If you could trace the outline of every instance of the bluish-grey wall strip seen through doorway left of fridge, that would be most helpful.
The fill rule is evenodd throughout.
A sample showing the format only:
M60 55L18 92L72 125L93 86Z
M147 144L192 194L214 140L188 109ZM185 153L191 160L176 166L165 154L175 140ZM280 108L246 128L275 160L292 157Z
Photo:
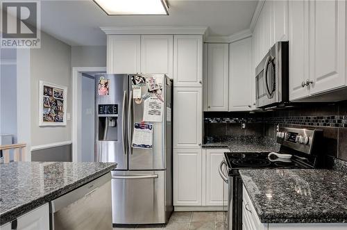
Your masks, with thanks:
M94 104L95 79L93 76L82 74L82 108L81 108L81 160L94 161Z

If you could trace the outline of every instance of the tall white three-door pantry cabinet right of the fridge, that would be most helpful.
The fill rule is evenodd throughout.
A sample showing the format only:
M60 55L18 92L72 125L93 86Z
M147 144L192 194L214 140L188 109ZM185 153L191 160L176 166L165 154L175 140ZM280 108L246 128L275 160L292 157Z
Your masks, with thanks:
M202 204L203 38L174 35L174 206Z

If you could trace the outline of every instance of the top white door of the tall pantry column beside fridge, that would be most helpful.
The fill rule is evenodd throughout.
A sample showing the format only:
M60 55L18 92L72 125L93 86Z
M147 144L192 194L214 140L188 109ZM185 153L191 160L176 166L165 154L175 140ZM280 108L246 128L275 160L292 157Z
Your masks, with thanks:
M174 86L202 87L203 38L201 35L174 36Z

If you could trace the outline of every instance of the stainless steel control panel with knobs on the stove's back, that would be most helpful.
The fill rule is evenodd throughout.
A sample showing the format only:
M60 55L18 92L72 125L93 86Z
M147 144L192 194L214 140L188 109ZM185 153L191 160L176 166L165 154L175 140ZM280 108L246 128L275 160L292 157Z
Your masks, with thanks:
M323 131L321 129L282 128L277 132L277 142L281 145L311 154L314 139Z

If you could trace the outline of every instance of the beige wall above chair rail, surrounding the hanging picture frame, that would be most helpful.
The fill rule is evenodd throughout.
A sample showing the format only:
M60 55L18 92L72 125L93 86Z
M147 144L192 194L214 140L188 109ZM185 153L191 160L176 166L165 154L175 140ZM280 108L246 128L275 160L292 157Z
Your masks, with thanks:
M39 81L67 87L67 113L71 114L71 47L41 32L41 49L31 49L31 146L71 140L71 121L67 126L38 123Z

